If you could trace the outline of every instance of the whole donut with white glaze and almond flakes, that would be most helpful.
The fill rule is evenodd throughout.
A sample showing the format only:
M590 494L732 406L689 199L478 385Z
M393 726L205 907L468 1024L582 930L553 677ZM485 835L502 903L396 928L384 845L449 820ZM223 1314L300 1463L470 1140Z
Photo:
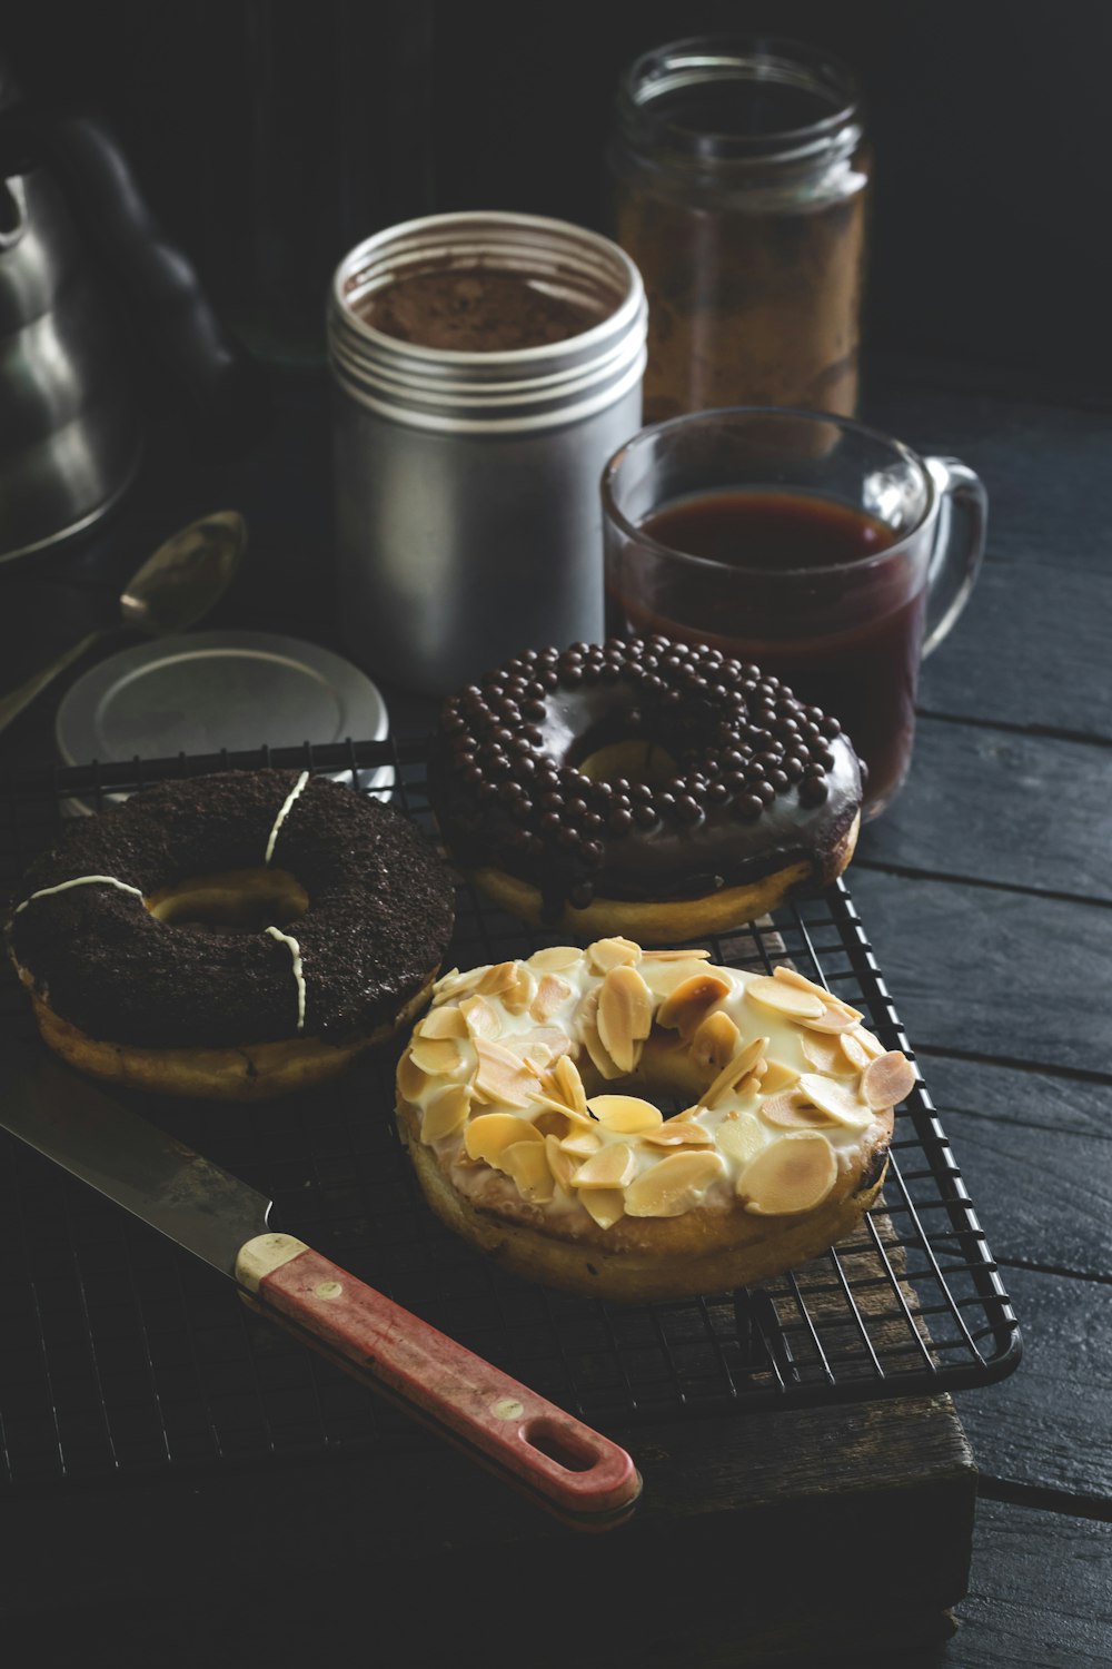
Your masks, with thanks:
M637 1302L752 1285L849 1235L914 1082L790 968L615 936L442 978L397 1112L448 1227L527 1278Z

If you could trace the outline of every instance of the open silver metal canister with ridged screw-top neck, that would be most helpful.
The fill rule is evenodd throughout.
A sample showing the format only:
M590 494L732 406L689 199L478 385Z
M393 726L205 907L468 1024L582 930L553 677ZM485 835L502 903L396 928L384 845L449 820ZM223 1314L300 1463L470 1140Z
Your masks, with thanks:
M397 279L475 269L582 307L590 327L482 352L370 322L368 302ZM352 659L440 696L522 649L602 638L599 481L640 427L645 320L624 250L537 215L430 215L340 262L328 357L338 619Z

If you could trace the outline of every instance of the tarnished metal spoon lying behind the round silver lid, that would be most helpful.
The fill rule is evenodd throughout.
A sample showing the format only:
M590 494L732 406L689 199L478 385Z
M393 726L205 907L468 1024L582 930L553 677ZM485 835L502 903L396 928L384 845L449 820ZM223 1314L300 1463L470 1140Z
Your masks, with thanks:
M215 511L190 522L160 544L153 556L128 579L120 594L123 626L163 638L188 631L220 601L232 584L247 547L247 522L238 511ZM58 678L67 666L80 661L95 643L118 628L102 626L65 649L50 666L33 673L25 684L0 699L0 731L23 708Z

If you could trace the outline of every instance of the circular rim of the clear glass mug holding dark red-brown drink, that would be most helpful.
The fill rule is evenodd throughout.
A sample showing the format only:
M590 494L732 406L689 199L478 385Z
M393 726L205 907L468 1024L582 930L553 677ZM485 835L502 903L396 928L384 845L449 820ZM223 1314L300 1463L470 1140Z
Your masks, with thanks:
M885 544L880 551L870 551L862 556L854 556L845 562L830 562L822 567L824 576L829 574L860 574L870 567L880 567L884 562L890 562L899 557L907 549L909 542L927 526L934 511L939 504L939 491L934 476L927 469L925 461L905 446L904 441L897 441L895 436L884 434L882 429L870 429L867 424L857 422L854 417L842 417L837 412L814 411L805 406L722 406L712 411L700 412L684 412L680 417L669 417L665 422L647 424L639 429L637 434L624 441L622 446L614 452L602 471L600 494L602 494L602 514L604 522L612 522L627 539L635 544L644 546L655 556L667 557L669 561L690 562L695 567L727 572L727 574L747 574L750 577L759 577L765 581L797 581L800 577L810 576L814 579L815 569L812 567L750 567L745 562L720 562L714 556L697 556L694 551L680 551L679 546L662 544L660 539L654 539L652 534L645 532L637 522L630 521L625 511L619 509L614 482L622 462L630 456L630 452L657 437L675 432L679 429L694 427L700 422L710 421L732 421L732 419L752 419L762 417L779 422L780 419L790 419L799 422L800 419L810 422L820 422L825 426L834 426L849 434L855 434L864 441L874 441L879 446L885 446L890 452L902 459L910 469L915 471L924 486L924 507L915 517L910 527L905 527L899 539L892 544ZM674 502L674 501L672 501ZM657 506L660 507L660 506Z

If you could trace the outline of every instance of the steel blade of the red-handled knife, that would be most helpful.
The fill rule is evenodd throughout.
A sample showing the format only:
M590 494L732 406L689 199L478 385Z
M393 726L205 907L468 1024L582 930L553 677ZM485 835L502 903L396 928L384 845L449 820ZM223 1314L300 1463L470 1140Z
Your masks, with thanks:
M0 1050L0 1125L220 1270L267 1228L270 1200L93 1088L37 1038Z

